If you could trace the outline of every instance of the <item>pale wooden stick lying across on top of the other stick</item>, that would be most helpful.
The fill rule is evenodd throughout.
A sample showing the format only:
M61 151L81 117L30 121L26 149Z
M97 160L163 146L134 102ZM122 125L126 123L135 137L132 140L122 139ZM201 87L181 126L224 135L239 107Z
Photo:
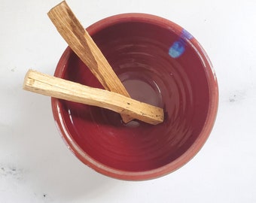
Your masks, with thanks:
M145 123L156 125L163 122L162 108L136 101L116 92L85 86L38 71L27 72L23 89L54 98L107 108Z

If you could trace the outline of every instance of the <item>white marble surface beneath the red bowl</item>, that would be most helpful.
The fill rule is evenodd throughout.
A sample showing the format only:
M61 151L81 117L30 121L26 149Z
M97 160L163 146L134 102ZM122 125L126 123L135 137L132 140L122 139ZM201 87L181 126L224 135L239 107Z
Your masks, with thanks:
M69 0L84 26L142 12L187 29L218 77L218 118L200 153L156 180L98 174L70 153L50 98L22 90L29 68L53 74L66 43L47 17L59 1L0 0L0 202L256 202L256 2Z

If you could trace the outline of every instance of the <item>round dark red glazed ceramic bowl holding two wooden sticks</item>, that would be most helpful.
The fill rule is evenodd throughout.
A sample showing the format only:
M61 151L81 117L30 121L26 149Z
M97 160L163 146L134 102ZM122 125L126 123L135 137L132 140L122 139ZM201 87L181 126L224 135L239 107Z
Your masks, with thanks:
M148 14L120 14L87 28L133 98L164 109L156 126L52 98L53 117L81 162L123 180L169 174L203 147L215 123L218 83L206 52L185 29ZM54 74L102 88L68 47Z

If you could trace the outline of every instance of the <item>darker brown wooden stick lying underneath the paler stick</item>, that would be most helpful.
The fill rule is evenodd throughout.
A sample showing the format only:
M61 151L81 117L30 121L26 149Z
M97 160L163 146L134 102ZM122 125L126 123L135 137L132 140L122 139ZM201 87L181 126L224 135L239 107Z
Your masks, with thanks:
M78 57L90 68L102 86L111 91L130 97L123 84L109 65L105 56L99 50L88 32L81 26L78 19L66 2L61 2L48 12L50 20L58 30L62 38ZM133 120L132 117L121 114L124 123Z

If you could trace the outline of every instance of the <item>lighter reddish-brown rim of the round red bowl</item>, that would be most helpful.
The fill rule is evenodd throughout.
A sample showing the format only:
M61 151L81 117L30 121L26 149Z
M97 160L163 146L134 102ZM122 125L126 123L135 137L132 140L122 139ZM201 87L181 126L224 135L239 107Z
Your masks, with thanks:
M141 14L141 13L128 13L128 14L117 14L111 17L106 17L102 20L99 20L96 23L93 23L87 28L87 32L90 35L94 35L96 32L99 32L101 29L105 29L108 26L112 26L116 23L125 23L130 21L138 21L142 23L153 23L157 26L162 26L168 28L171 32L180 34L184 29L178 24L173 23L170 20L166 20L163 17L158 17L152 14ZM81 150L81 147L72 140L71 135L69 135L69 130L66 128L65 123L62 120L61 114L62 110L59 108L59 100L56 98L51 98L51 105L53 111L53 118L55 120L57 129L59 129L62 140L66 143L69 150L75 154L75 156L81 160L85 165L88 165L90 168L93 168L95 171L98 171L101 174L105 174L108 177L114 177L121 180L150 180L157 177L162 177L163 175L169 174L173 171L176 171L181 166L185 165L190 159L193 159L194 156L200 151L200 149L205 144L206 140L209 138L212 128L215 123L218 111L218 81L215 74L215 71L212 67L212 62L206 54L206 51L200 45L200 43L195 39L186 39L186 41L193 47L197 54L200 56L200 59L203 61L204 69L206 71L206 79L209 85L209 109L200 135L194 141L194 143L186 150L181 156L179 156L174 161L170 162L167 165L163 165L160 168L155 168L149 171L121 171L115 168L108 167L100 162L97 162L95 159L90 157L87 153ZM62 53L61 58L59 59L58 65L56 66L56 71L54 76L62 77L63 65L69 59L72 50L70 47L67 47L64 53Z

